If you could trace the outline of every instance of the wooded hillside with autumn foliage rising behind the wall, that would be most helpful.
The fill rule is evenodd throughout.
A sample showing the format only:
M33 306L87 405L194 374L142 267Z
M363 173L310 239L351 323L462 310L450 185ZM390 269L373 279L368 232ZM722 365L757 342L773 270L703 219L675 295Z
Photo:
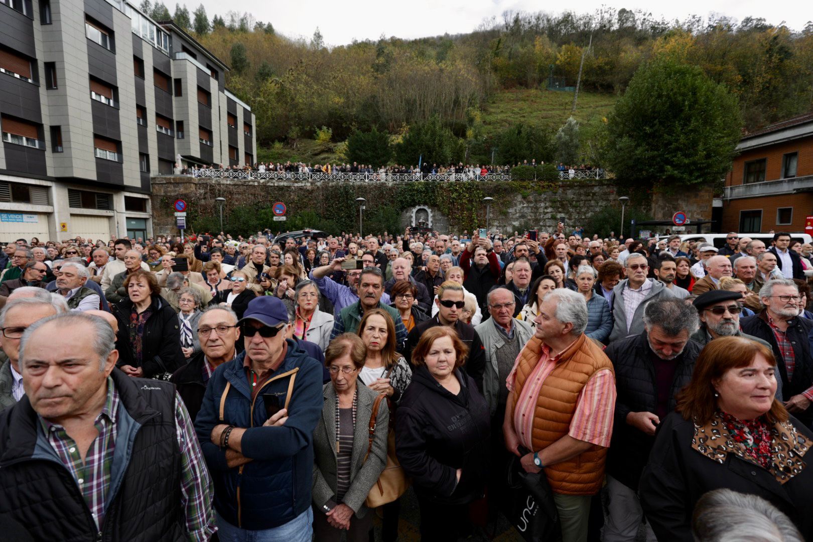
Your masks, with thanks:
M228 63L228 88L257 116L259 145L268 149L260 157L273 159L300 143L326 160L346 158L348 138L360 133L369 141L389 135L398 145L382 156L406 160L404 138L434 130L451 138L441 155L454 160L511 163L519 145L550 161L561 155L556 133L573 141L575 129L576 160L601 163L613 106L652 61L693 67L693 77L729 93L736 111L722 124L754 130L813 108L811 22L666 21L608 7L506 12L467 34L328 48L319 28L310 40L291 39L246 13L210 18L202 6L180 5L170 13L149 0L141 7L156 20L172 18ZM552 90L577 81L575 103L572 91Z

